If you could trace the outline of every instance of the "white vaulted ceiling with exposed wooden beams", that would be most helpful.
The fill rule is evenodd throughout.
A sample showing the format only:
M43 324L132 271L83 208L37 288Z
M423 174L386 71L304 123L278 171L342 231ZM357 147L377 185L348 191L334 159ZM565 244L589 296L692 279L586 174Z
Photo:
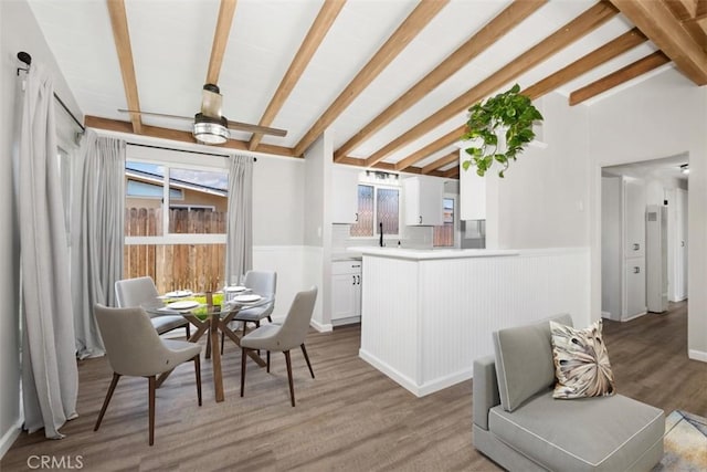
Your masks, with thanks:
M193 141L217 83L224 147L458 176L467 108L514 83L591 104L663 67L707 83L707 0L30 0L87 126ZM28 51L31 53L31 51Z

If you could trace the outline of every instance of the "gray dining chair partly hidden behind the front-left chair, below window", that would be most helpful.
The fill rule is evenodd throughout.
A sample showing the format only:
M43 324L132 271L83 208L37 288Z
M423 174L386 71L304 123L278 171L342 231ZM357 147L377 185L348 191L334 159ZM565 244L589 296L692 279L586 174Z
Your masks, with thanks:
M159 296L155 282L150 276L125 279L115 283L115 297L118 308L140 306L141 303L152 301ZM172 329L184 328L187 339L191 335L190 323L181 315L148 314L157 334L169 333Z

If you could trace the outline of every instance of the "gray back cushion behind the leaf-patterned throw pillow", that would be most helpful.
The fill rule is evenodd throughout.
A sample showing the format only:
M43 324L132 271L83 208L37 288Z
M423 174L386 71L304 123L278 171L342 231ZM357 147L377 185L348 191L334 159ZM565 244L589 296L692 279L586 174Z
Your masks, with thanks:
M572 325L571 316L564 314L494 333L498 392L506 411L555 385L550 319Z

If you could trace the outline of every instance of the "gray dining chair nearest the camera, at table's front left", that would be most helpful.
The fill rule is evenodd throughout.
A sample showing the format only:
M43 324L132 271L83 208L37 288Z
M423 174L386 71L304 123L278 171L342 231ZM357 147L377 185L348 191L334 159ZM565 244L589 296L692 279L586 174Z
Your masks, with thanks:
M94 431L98 431L115 387L122 376L147 377L149 444L155 443L155 389L157 376L193 360L197 375L197 398L201 407L201 346L187 340L162 339L140 307L110 308L96 304L94 314L98 322L113 380L108 387Z

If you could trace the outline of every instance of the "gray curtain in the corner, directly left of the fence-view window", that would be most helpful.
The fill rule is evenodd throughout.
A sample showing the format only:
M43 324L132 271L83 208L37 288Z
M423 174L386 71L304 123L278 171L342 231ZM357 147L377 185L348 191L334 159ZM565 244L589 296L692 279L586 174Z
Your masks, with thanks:
M93 306L116 306L114 286L123 279L125 140L88 129L81 155L77 211L72 213L72 286L76 352L85 358L105 354Z

